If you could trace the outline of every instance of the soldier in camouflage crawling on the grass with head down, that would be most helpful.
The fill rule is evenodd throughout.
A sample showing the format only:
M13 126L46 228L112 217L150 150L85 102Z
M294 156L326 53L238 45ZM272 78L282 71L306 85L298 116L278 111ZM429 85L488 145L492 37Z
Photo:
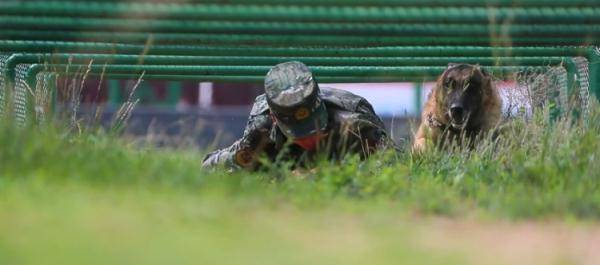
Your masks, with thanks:
M366 158L388 146L393 142L367 100L319 88L308 67L292 61L267 73L265 94L256 98L242 138L208 154L203 167L256 169L265 161L260 156L302 166L319 153L329 159L346 154Z

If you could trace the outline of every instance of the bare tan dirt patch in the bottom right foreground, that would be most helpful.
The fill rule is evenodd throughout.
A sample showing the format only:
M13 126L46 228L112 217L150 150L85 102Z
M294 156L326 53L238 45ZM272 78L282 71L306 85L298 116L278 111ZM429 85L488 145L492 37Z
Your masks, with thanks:
M600 264L600 226L555 222L431 220L420 244L471 264Z

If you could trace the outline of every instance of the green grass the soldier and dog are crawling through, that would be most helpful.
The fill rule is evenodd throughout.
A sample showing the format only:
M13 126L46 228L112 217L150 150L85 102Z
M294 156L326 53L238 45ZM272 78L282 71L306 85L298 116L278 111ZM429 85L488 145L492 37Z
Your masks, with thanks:
M0 264L464 264L428 218L600 219L600 116L514 121L474 152L202 170L203 152L0 129Z

